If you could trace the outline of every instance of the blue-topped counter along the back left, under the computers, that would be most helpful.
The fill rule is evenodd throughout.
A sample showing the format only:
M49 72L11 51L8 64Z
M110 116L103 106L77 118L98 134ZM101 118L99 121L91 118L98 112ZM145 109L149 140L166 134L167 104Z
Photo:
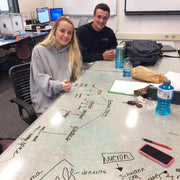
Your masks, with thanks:
M40 34L38 34L37 32L25 32L25 34L19 35L19 39L23 39L23 38L26 38L26 37L31 37L34 40L35 38L45 36L47 34L48 34L48 32L41 32ZM18 41L16 39L3 39L3 38L0 38L0 48L3 48L4 46L7 46L7 45L15 44L17 42Z

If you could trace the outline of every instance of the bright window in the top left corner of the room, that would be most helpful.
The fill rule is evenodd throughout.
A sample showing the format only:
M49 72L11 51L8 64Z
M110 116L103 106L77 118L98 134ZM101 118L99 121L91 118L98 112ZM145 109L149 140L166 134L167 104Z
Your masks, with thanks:
M19 13L18 0L0 0L0 13Z

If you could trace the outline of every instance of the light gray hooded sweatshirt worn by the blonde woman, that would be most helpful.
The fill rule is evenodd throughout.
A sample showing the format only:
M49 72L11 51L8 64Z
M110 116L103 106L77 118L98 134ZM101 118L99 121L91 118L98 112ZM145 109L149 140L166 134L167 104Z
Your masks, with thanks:
M69 49L57 51L54 46L37 45L32 52L30 90L33 107L41 114L64 91L62 81L70 80Z

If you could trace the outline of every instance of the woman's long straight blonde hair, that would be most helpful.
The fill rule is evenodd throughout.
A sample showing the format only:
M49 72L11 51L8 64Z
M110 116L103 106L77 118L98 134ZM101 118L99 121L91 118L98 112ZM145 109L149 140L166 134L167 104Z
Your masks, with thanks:
M47 36L47 38L45 38L39 44L49 45L49 46L53 46L55 44L54 34L55 34L57 27L61 21L66 21L73 26L72 38L68 44L68 47L69 47L69 70L71 72L71 69L73 67L72 72L71 72L71 77L72 77L72 79L77 79L81 73L81 56L80 56L80 50L79 50L77 37L76 37L76 33L75 33L75 28L74 28L72 21L69 18L64 17L64 16L59 17L55 21L55 23L54 23L49 35Z

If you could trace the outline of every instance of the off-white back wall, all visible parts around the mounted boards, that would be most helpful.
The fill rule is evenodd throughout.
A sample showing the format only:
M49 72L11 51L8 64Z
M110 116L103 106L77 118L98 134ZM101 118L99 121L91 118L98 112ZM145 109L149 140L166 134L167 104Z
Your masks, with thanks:
M54 7L56 0L19 0L20 11L24 18L30 17L30 11L40 7ZM136 15L124 14L124 0L117 0L117 16L107 23L118 39L162 39L180 40L180 15ZM93 11L93 9L92 9ZM29 12L29 13L26 13ZM69 16L77 27L80 17ZM89 21L91 21L90 18Z

